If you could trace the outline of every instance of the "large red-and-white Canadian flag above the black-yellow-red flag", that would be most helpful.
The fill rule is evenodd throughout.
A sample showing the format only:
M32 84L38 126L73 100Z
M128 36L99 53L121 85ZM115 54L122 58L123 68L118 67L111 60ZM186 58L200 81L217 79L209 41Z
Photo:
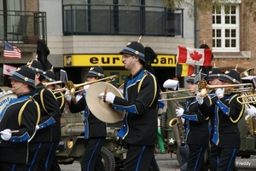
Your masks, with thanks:
M209 48L177 46L177 63L196 66L211 66L212 51Z

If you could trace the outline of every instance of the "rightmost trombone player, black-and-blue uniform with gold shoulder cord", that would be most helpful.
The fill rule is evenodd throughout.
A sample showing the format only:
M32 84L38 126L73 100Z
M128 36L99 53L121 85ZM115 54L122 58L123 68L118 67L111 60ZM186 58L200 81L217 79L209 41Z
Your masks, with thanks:
M219 77L222 85L240 83L240 74L236 70L225 71ZM229 88L217 88L212 105L203 102L200 109L206 117L214 117L212 126L212 144L210 149L211 171L235 170L236 153L240 148L240 133L237 122L240 120L244 105L237 101L239 94L228 93ZM231 143L230 143L231 142Z

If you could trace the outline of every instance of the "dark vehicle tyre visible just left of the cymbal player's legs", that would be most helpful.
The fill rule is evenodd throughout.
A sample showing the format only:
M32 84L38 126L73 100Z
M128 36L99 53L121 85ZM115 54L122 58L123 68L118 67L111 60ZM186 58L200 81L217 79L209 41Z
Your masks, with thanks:
M115 162L113 154L105 147L102 147L102 163L106 171L114 171Z

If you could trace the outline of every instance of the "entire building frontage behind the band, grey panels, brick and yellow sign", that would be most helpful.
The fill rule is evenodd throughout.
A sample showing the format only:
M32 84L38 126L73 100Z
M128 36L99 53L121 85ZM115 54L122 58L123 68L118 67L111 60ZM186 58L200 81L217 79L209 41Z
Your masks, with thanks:
M119 51L140 36L141 43L158 54L153 66L161 85L175 77L177 45L199 48L201 43L207 43L214 54L212 65L224 69L238 65L243 71L253 67L255 60L255 22L245 15L248 12L244 1L221 9L223 11L216 9L213 13L199 14L196 21L189 19L189 7L171 11L162 1L155 0L0 0L1 10L20 10L26 14L32 11L34 16L39 13L36 16L40 20L38 25L34 24L35 28L39 27L36 31L29 30L32 22L28 19L28 41L23 36L17 42L14 35L4 32L8 29L0 31L0 47L8 41L22 52L21 60L4 59L2 53L0 67L3 68L3 64L20 66L34 59L35 42L44 37L50 51L48 60L56 76L64 69L73 83L84 82L85 73L96 65L102 66L107 75L119 75L116 84L122 83L128 72L122 66ZM45 22L40 18L44 13ZM19 20L6 22L4 19L0 15L0 22L15 31L13 26L19 24ZM179 80L183 85L183 77ZM0 83L6 82L3 78Z

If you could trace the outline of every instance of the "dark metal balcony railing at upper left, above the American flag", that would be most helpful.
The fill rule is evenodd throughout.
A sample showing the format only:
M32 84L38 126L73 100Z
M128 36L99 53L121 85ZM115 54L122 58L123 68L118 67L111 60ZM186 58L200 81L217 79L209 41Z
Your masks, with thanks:
M45 12L0 10L0 23L0 42L36 43L38 38L47 41Z

